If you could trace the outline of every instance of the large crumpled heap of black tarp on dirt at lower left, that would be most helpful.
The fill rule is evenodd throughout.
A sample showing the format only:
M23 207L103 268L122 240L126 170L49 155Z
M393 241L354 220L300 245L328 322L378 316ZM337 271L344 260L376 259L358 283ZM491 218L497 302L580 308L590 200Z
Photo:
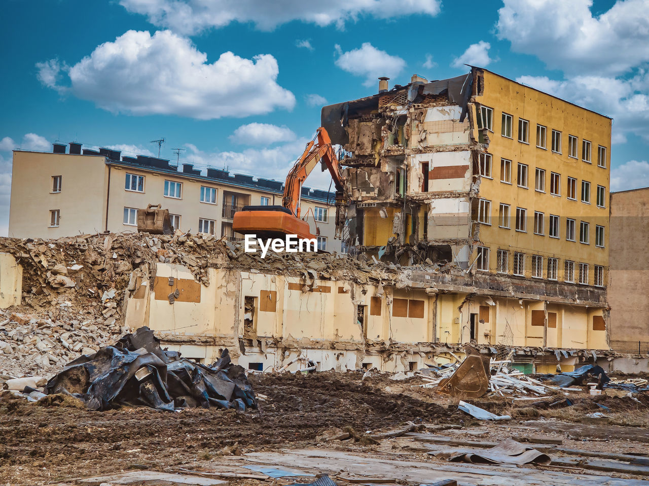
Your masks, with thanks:
M47 382L45 393L68 393L90 410L125 404L169 411L197 406L257 408L243 367L232 364L227 349L208 367L177 351L163 351L148 327L69 363Z

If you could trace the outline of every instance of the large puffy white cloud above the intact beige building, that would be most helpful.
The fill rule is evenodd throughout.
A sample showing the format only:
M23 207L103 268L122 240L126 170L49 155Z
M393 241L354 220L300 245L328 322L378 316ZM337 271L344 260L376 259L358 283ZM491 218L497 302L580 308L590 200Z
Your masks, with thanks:
M50 64L40 65L45 86L61 89L51 84ZM169 30L153 36L129 30L70 67L67 90L114 113L247 117L295 106L293 93L277 84L278 73L271 54L251 60L224 52L208 64L204 52Z

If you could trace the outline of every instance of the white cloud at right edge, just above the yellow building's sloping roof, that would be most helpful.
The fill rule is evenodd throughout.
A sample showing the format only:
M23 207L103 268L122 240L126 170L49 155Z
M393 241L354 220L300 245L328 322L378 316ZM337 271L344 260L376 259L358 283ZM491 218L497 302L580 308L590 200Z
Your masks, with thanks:
M613 142L627 133L649 141L649 73L631 79L575 76L557 81L547 76L520 76L517 81L613 118Z

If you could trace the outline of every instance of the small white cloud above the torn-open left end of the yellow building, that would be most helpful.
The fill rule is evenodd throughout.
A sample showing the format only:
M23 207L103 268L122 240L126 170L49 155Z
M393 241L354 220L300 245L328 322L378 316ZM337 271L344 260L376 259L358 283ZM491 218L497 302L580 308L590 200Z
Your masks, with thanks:
M336 44L336 51L339 54L336 65L352 75L363 76L363 86L378 85L379 76L396 78L406 67L406 61L402 58L379 51L369 42L363 42L360 48L347 52Z

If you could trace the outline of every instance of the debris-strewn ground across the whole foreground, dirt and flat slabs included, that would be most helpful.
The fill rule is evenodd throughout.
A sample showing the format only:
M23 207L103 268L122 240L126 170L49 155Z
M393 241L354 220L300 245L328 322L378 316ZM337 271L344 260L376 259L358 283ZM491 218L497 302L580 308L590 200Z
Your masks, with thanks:
M219 476L210 474L251 474L241 467L251 463L327 473L337 484L363 483L358 476L365 476L365 483L400 484L434 483L444 478L467 485L649 484L643 481L649 477L649 466L626 467L625 462L617 461L622 465L617 467L613 461L611 470L607 467L611 460L606 459L606 454L640 454L641 460L649 455L646 392L635 394L637 400L572 393L574 405L565 408L550 408L552 399L540 400L545 405L534 407L524 400L467 400L512 417L506 422L485 422L459 411L459 399L440 395L434 388L413 386L422 383L420 378L395 381L390 376L380 373L363 380L360 371L252 376L256 393L265 398L258 411L245 413L215 409L164 412L143 407L98 412L62 395L31 403L4 392L0 395L0 484L88 485L92 481L83 478L182 470L201 472L198 477L214 480ZM608 409L608 424L583 424L585 415L604 410L598 403ZM408 422L417 426L417 432L368 438L380 431L398 430ZM346 434L349 439L329 440ZM553 465L451 463L427 454L440 448L452 452L462 445L484 448L502 439L522 441L536 435L545 443L532 446L542 452L547 449ZM599 457L556 448L590 451ZM555 460L561 464L554 465ZM593 465L600 467L593 469ZM315 480L228 478L227 474L221 480L234 486ZM95 484L102 482L111 484ZM145 476L131 484L144 483L158 484L146 482Z

